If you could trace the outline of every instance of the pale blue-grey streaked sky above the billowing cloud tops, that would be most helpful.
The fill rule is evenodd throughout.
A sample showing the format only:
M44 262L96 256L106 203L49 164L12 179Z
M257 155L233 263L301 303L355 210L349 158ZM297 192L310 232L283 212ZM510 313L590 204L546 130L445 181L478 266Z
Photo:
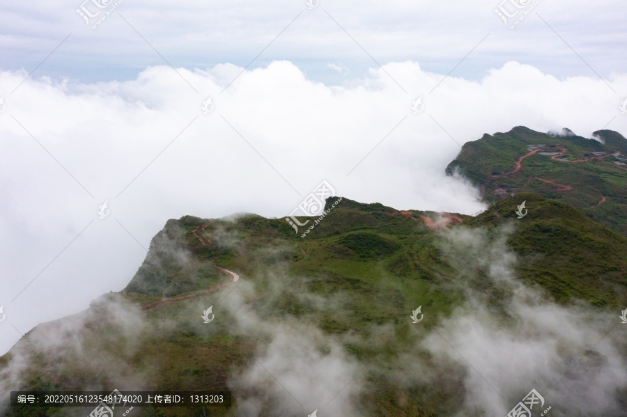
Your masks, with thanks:
M84 8L102 15L114 4L99 9L90 0ZM81 1L6 1L0 69L31 72L56 47L33 76L125 81L165 60L189 70L288 60L326 84L360 79L374 61L415 61L447 74L465 56L453 74L475 80L508 61L559 78L595 72L607 78L626 68L627 12L620 1L540 1L515 29L495 13L500 4L322 0L308 10L304 1L122 1L91 29L76 11ZM522 15L533 4L518 9L507 0L502 8Z

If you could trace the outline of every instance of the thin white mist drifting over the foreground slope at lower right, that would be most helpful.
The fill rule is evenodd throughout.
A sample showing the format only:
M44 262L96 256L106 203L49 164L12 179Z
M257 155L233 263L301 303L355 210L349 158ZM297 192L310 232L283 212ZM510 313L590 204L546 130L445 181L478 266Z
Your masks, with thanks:
M513 269L516 254L506 245L513 227L504 226L490 244L479 230L444 231L442 249L449 262L466 275L485 271L490 290L502 296L498 306L489 306L485 293L461 281L465 303L421 346L437 366L453 362L464 369L463 415L505 415L532 388L545 398L541 411L550 406L564 415L616 414L618 393L627 386L627 363L618 334L607 332L617 322L615 315L575 301L560 306L539 288L523 285Z

